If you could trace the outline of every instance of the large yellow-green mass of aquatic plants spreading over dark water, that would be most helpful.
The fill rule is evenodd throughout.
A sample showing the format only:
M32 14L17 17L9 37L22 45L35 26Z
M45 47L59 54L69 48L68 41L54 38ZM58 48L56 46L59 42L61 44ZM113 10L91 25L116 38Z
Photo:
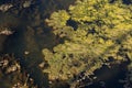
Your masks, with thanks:
M43 50L44 59L50 65L44 73L50 74L51 80L67 79L73 84L72 80L77 82L89 78L102 65L112 66L112 63L130 59L131 7L121 0L113 3L109 0L77 0L68 11L53 12L46 22L64 43L53 51Z

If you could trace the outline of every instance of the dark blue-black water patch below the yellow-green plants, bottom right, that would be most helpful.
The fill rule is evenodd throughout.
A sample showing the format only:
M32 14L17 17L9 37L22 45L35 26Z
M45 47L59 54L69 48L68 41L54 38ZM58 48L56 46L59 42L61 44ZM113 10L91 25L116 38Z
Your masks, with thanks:
M123 84L119 82L119 79L125 78L127 65L127 63L123 63L121 65L113 65L111 68L102 66L102 68L95 72L97 79L88 88L102 88L102 82L105 88L123 88Z

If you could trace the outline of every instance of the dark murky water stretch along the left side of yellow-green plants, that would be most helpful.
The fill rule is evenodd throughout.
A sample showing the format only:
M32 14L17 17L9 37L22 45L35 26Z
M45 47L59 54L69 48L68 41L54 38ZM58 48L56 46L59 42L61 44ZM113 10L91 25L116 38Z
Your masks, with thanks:
M10 2L10 0L8 1ZM4 0L2 3L8 3L8 1ZM45 47L52 48L55 45L55 35L50 31L46 31L48 29L44 25L44 19L55 10L68 8L68 4L74 0L66 3L66 6L56 1L53 1L51 4L51 0L42 0L42 3L31 6L29 9L20 10L18 8L12 8L7 12L8 15L11 14L19 18L19 22L12 28L14 34L7 36L4 42L1 43L1 46L3 45L2 54L13 53L15 57L20 59L21 66L34 79L38 88L48 88L48 74L43 73L38 67L38 64L44 62L42 50ZM20 2L14 1L13 4L15 3L19 6ZM55 8L53 8L53 6ZM41 14L40 20L35 19L36 13ZM14 19L8 20L10 21L9 23L13 23L13 21L15 22ZM36 22L36 24L34 24L34 22ZM6 24L11 28L7 22ZM40 28L40 31L42 31L41 33L37 31Z

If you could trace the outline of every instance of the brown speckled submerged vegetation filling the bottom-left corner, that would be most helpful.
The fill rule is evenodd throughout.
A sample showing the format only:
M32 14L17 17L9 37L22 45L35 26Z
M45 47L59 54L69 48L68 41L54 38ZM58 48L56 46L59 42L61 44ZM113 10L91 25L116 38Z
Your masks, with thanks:
M37 88L33 81L13 55L7 54L0 57L1 88Z

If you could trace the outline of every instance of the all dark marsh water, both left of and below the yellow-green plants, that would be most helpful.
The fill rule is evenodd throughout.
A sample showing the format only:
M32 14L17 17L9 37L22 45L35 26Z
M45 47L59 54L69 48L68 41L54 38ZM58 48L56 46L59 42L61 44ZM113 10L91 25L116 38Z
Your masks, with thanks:
M0 12L0 25L11 28L11 31L14 32L8 36L0 35L0 54L14 54L31 77L34 78L38 88L45 86L48 88L48 74L43 74L37 66L44 62L42 50L45 47L52 50L58 42L44 20L50 18L54 11L67 10L75 0L36 0L28 8L22 8L21 1L2 0L0 2L0 4L14 4L7 12ZM125 77L125 66L124 64L122 66L124 68L121 68L118 65L111 69L103 67L95 72L100 78L95 80L95 85L86 88L102 88L99 87L98 81L106 81L106 88L123 88L118 80Z

